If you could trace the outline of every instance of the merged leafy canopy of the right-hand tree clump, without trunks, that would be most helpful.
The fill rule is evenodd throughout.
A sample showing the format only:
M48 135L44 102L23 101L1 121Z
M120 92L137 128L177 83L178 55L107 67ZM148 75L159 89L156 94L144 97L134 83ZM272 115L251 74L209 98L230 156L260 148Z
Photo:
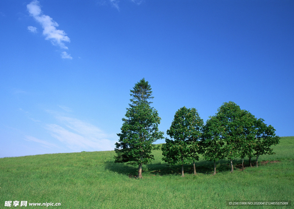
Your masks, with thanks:
M245 156L257 157L273 154L271 145L279 142L275 129L256 119L234 102L224 102L215 116L210 117L203 127L201 147L203 156L209 161L227 157L233 159Z

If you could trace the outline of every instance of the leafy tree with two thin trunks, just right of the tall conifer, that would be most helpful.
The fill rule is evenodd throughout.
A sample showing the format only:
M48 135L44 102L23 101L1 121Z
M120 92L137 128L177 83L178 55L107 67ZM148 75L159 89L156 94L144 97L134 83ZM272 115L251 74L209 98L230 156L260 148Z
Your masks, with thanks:
M184 164L193 161L194 174L196 174L195 161L199 159L198 139L201 136L203 120L195 108L180 108L171 124L167 134L174 140L166 139L162 145L162 159L172 165L182 165L184 176Z

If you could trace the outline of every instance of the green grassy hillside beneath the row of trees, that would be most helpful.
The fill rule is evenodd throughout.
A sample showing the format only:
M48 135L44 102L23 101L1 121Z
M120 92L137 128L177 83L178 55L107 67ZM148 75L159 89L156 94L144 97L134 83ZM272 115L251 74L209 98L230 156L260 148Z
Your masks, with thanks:
M170 166L155 160L143 166L143 179L136 179L137 167L114 163L114 151L46 154L0 159L0 208L5 201L54 202L48 208L294 208L291 206L228 206L234 201L293 201L294 137L281 137L275 155L263 155L259 167L242 172L235 159L234 173L229 160L220 160L217 174L213 162L200 158L185 165ZM275 162L271 162L275 161ZM278 161L278 162L277 162ZM254 159L253 159L254 162ZM267 163L266 163L267 162ZM248 164L248 159L244 160ZM11 208L10 207L10 208Z

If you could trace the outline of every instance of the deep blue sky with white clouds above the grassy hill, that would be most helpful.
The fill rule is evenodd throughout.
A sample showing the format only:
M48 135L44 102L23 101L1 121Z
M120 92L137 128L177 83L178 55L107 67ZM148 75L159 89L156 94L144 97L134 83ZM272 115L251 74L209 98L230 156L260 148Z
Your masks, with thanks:
M161 131L183 106L206 121L233 101L293 136L293 11L286 0L1 0L0 157L113 150L143 77Z

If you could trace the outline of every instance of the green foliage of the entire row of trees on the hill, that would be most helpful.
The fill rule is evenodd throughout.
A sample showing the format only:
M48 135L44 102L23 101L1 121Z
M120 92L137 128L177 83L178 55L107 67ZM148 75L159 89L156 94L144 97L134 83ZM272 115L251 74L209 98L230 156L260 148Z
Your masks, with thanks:
M263 119L257 120L250 112L241 110L230 101L224 102L205 125L195 108L180 108L167 130L171 139L166 138L166 143L156 148L153 142L163 139L163 132L158 130L161 118L150 107L152 102L147 101L153 99L151 87L145 79L141 79L130 95L133 97L130 99L132 104L127 108L126 118L122 119L114 158L115 162L139 165L139 178L140 166L153 160L151 152L155 149L162 150L165 162L183 165L198 160L198 153L214 162L223 158L272 155L274 152L270 147L279 143L280 138L271 125L267 126ZM232 162L231 167L232 172Z

